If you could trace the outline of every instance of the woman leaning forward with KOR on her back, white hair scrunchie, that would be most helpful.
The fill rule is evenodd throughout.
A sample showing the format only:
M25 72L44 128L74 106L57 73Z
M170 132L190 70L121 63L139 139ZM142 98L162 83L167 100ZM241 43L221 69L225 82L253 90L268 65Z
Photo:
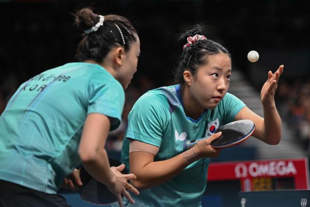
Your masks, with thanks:
M89 8L76 14L83 31L80 62L50 69L22 84L0 117L0 206L68 206L57 195L65 177L81 161L85 169L116 195L134 202L139 191L110 167L104 149L110 130L121 121L124 89L137 71L140 40L136 29L117 15ZM127 190L126 190L127 189Z

